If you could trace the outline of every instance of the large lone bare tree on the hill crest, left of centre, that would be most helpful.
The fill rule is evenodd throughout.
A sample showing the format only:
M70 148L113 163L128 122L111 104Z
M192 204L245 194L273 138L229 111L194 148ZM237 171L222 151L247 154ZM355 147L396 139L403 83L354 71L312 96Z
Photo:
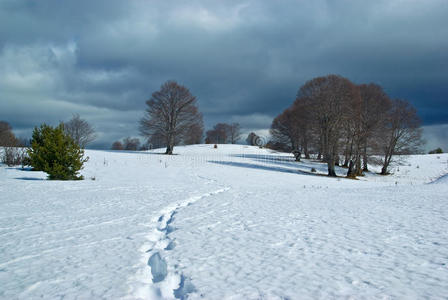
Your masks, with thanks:
M148 107L140 121L140 132L148 138L153 135L162 137L166 154L173 154L176 140L182 140L194 124L202 124L196 97L175 81L162 84L146 104Z

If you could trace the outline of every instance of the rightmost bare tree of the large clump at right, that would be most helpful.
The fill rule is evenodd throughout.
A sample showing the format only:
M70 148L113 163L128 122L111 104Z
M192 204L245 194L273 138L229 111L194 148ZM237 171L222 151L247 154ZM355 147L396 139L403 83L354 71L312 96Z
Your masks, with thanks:
M383 130L383 167L381 174L388 174L394 155L415 153L422 144L420 118L407 101L395 99L388 114L388 124Z

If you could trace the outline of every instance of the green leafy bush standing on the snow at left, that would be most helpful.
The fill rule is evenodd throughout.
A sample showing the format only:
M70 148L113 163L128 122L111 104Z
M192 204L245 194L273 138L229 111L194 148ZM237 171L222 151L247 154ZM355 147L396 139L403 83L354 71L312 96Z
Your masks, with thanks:
M46 124L34 128L28 155L31 166L48 173L49 179L84 179L78 172L88 157L84 158L84 150L64 132L62 124L55 128Z

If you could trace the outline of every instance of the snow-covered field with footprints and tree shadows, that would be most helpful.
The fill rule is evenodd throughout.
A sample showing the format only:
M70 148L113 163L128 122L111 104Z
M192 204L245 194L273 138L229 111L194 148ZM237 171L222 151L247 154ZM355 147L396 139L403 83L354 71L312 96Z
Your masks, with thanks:
M0 298L447 298L448 155L350 180L256 147L157 152L87 151L75 182L0 166Z

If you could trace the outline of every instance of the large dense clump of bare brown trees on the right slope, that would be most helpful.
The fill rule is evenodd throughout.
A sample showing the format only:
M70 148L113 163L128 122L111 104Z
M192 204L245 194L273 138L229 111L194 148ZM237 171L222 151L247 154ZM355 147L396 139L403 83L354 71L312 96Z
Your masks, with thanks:
M382 174L392 157L415 152L421 143L420 120L405 100L390 99L376 84L355 85L338 75L317 77L298 91L294 103L277 116L270 130L273 143L311 151L336 176L335 165L347 176L368 171L372 155L382 157Z

